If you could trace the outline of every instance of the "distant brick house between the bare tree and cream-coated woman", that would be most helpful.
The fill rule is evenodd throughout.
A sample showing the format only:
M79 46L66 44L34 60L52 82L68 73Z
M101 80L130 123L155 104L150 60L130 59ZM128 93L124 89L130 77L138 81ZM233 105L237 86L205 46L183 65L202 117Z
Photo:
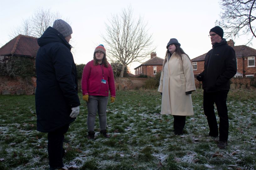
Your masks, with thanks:
M163 68L163 58L157 57L157 53L152 52L150 54L150 59L145 63L142 63L140 66L134 68L135 76L138 75L147 75L155 76L157 72L162 71Z

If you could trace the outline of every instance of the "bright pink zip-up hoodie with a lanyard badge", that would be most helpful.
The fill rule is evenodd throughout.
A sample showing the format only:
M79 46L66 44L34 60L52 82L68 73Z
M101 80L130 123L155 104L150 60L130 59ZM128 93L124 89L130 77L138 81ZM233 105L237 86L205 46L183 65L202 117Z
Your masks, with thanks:
M103 78L104 76L104 78ZM106 83L101 83L102 79ZM82 91L83 95L115 97L115 80L111 65L106 68L104 65L93 65L93 60L83 68Z

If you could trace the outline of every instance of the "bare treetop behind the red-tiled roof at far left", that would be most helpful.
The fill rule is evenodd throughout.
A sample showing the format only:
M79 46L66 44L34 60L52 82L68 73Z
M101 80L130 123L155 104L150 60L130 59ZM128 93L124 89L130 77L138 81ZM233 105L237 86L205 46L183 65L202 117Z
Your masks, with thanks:
M56 19L60 18L61 15L58 12L52 12L51 9L37 8L31 17L23 20L23 24L9 34L9 37L14 38L19 34L41 37L45 30L52 26Z

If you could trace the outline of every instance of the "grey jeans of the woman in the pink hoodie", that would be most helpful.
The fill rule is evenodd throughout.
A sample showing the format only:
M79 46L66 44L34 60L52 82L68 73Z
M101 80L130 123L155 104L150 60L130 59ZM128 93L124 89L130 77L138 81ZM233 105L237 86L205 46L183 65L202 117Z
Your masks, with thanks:
M108 96L89 96L87 103L88 116L87 127L88 131L94 131L95 118L98 111L99 115L99 127L100 130L106 129L107 126L107 104Z

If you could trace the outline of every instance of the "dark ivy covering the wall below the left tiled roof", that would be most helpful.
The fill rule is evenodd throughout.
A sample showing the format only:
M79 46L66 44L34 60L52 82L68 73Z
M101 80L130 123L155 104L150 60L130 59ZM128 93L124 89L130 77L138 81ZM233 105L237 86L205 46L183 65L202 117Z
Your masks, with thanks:
M35 77L35 58L9 56L0 63L0 76L31 78Z

